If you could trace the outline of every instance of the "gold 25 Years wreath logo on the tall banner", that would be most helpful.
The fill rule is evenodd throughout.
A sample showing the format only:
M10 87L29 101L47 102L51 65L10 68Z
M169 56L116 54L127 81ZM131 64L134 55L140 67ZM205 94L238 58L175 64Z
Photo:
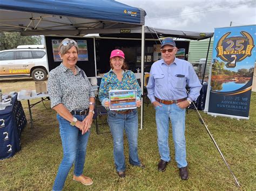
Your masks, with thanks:
M247 56L252 55L254 42L251 34L241 31L242 36L227 38L231 32L224 34L217 43L217 56L225 61L227 68L234 68L237 62L244 60Z

